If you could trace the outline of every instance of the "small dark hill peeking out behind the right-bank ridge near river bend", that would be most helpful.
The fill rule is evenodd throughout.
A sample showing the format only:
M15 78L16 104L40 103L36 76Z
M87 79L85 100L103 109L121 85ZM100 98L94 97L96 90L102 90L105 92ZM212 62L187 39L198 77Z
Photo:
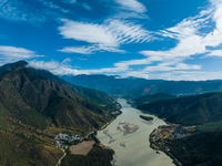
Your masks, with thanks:
M134 98L132 101L133 101L134 105L140 106L140 105L152 103L152 102L155 102L155 101L174 98L174 97L176 97L176 96L171 95L171 94L157 93L157 94L151 94L151 95L144 95L144 96L141 96L139 98Z

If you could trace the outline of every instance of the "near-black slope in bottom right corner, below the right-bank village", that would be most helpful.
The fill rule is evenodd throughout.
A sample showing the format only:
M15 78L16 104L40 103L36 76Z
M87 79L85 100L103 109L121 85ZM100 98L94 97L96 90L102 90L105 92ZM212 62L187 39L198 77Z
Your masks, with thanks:
M222 132L205 132L171 143L171 153L183 166L222 165Z

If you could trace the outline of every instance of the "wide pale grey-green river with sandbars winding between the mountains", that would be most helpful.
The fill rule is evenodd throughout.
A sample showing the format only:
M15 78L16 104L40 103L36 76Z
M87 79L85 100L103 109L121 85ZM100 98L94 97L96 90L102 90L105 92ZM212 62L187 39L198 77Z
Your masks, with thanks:
M103 131L98 132L98 138L103 145L115 152L117 166L174 166L173 160L164 153L150 147L149 135L159 125L165 123L157 116L143 114L130 106L124 98L119 98L122 114ZM152 116L152 123L145 123L140 115Z

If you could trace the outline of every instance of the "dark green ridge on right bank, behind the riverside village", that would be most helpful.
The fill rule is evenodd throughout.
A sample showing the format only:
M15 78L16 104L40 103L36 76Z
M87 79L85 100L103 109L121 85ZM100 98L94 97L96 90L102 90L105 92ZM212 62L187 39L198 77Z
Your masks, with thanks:
M222 121L222 93L206 93L193 96L161 100L138 106L182 125L202 125L204 123Z

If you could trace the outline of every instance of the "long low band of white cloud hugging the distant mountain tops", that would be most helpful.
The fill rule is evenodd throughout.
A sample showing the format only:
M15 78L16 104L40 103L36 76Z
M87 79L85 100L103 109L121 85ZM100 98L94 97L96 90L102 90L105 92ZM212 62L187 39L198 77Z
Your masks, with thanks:
M29 68L34 68L38 70L49 70L56 75L79 75L79 74L95 74L95 73L107 73L107 74L115 74L117 72L128 71L129 68L124 63L117 63L115 68L107 68L107 69L100 69L100 70L77 70L71 69L69 64L70 59L63 60L63 62L59 63L58 61L51 60L50 62L44 61L29 61ZM129 64L142 64L142 61L131 61L128 62ZM189 64L180 64L176 68L180 68L182 70L186 70L192 65ZM198 66L192 66L198 68ZM149 72L144 71L128 71L122 72L121 77L127 76L135 76L135 77L143 77L149 80L174 80L174 81L200 81L200 80L216 80L222 77L222 72L193 72L193 71L171 71L164 72L160 74L151 74Z

